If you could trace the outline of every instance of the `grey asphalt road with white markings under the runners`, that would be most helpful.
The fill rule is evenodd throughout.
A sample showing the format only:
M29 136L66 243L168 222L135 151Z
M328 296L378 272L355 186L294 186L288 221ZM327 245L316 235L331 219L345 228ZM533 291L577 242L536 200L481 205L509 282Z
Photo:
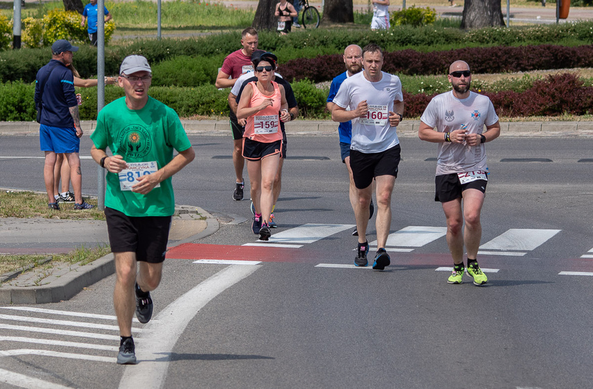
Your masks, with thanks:
M289 137L272 242L281 247L268 248L246 245L257 242L250 223L239 223L250 221L250 203L231 199L230 139L190 139L196 160L175 176L176 202L211 211L222 226L169 253L155 320L135 325L141 363L114 363L108 277L67 302L0 307L0 388L590 386L590 139L487 145L479 261L490 282L482 287L469 277L446 282L436 145L401 139L392 266L373 272L350 266L354 217L336 137ZM85 137L83 155L89 148ZM40 156L36 137L0 137L1 186L43 190ZM96 193L89 159L83 187ZM51 311L29 310L40 308Z

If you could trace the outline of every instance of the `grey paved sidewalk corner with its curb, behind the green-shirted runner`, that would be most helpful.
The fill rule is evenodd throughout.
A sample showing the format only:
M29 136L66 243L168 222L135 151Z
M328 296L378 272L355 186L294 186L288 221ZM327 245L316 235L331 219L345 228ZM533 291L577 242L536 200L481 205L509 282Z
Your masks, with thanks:
M178 205L169 234L169 248L195 241L218 230L214 216L199 207ZM78 238L76 238L78 237ZM0 254L55 254L109 242L105 221L45 218L0 218ZM65 241L66 240L66 241ZM0 275L0 304L44 304L68 300L83 288L115 271L113 255L87 265L51 263Z

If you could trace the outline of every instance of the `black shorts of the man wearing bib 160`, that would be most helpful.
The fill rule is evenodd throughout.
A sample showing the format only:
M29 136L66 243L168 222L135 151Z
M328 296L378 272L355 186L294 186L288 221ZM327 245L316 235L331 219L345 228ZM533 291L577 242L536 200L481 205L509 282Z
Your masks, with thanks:
M372 183L372 179L379 175L393 175L397 178L401 151L399 144L381 153L361 153L358 150L350 150L350 168L352 168L352 178L356 188L365 189Z

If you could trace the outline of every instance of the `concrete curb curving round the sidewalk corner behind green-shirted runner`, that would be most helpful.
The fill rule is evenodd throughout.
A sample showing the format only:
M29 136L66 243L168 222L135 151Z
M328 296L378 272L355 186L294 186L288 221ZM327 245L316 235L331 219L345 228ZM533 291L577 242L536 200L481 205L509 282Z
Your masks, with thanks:
M200 207L188 205L175 206L175 216L183 218L183 214L196 213L206 217L207 227L205 230L189 236L181 241L174 241L169 247L175 247L183 243L189 243L202 239L205 236L214 234L220 228L220 224L209 212ZM46 304L49 302L60 302L69 300L77 293L101 281L115 273L115 262L113 254L96 259L87 265L71 266L71 270L60 276L50 276L44 279L48 282L42 286L0 286L0 304Z

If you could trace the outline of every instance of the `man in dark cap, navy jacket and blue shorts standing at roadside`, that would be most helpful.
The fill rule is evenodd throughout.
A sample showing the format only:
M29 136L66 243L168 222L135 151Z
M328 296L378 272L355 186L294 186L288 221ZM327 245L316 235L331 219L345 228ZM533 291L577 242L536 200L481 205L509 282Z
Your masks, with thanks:
M51 45L51 61L37 71L35 80L35 105L40 115L40 148L45 152L43 178L49 198L49 208L60 210L53 197L53 168L58 154L65 154L70 165L70 181L74 188L74 209L93 206L83 200L83 176L80 171L80 128L78 102L74 92L74 75L67 68L72 63L74 51L67 40L57 40Z

